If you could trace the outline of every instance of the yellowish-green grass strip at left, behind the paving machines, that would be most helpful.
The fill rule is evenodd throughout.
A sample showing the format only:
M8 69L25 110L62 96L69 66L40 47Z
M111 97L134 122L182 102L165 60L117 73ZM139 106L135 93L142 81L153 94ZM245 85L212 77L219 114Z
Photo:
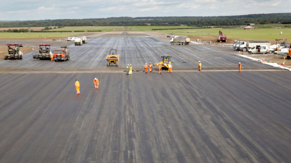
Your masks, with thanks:
M16 38L54 38L54 37L67 37L67 36L74 36L74 35L80 35L82 32L52 32L52 33L35 33L32 32L30 34L28 33L7 33L3 32L0 33L0 38L2 39L16 39Z

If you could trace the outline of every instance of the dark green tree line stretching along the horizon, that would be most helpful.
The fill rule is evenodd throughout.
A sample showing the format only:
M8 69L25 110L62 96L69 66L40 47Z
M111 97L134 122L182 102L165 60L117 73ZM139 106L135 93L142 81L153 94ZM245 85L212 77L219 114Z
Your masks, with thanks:
M62 19L0 22L5 27L69 26L240 26L246 24L291 24L291 13L251 14L218 17L111 17L101 19Z

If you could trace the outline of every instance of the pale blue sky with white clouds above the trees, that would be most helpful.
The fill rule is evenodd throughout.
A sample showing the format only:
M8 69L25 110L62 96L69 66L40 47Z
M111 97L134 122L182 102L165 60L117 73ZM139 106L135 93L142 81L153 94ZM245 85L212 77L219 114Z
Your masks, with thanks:
M0 21L290 13L278 0L0 0Z

